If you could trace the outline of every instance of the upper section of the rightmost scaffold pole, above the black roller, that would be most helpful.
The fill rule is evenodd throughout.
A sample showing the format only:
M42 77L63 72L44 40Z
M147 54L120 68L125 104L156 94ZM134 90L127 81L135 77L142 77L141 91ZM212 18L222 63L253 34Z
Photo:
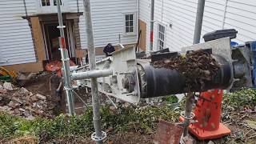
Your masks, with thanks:
M197 18L194 26L194 42L193 44L200 43L201 31L202 31L202 18L205 9L206 0L198 0Z

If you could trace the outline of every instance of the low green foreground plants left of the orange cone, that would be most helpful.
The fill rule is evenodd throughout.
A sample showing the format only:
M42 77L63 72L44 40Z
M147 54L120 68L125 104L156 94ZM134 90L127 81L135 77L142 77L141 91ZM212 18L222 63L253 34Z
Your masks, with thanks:
M119 107L111 110L110 106L102 107L102 126L106 130L110 127L114 131L136 130L143 134L151 134L158 123L158 119L169 122L178 120L179 113L171 106L148 106L136 109L134 106ZM39 142L46 142L52 138L85 137L94 131L92 109L88 108L80 116L68 117L64 114L54 119L36 118L32 121L18 118L10 114L0 114L0 139L34 136Z

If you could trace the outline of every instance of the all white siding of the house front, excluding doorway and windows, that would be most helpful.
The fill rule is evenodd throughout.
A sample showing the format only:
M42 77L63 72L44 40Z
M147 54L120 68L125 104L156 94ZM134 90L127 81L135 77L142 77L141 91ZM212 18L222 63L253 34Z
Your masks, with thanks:
M25 0L25 2L26 10L22 0L0 1L0 66L38 62L29 23L23 18L26 17L26 13L28 16L34 16L56 13L56 10L52 9L44 13L38 6L40 0ZM62 0L62 2L65 2L62 12L83 12L82 0ZM138 0L93 0L90 2L95 47L103 47L107 43L116 45L118 34L121 34L122 44L137 42L136 32L129 36L124 33L124 14L138 14ZM137 15L136 18L138 18ZM76 38L80 40L78 48L86 49L85 17L81 15L79 22L74 22L74 26L79 30L75 32Z

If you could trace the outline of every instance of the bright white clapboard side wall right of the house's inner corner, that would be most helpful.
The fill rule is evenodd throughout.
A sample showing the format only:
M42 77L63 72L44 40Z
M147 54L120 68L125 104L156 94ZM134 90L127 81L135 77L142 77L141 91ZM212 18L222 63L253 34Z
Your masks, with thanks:
M166 45L170 50L190 46L194 38L198 0L159 0L154 7L154 50L158 50L158 24L166 26ZM202 35L214 30L238 30L236 42L256 39L256 1L206 0ZM150 0L139 3L139 19L150 28ZM146 30L146 48L150 46L150 30ZM201 39L203 42L203 39Z

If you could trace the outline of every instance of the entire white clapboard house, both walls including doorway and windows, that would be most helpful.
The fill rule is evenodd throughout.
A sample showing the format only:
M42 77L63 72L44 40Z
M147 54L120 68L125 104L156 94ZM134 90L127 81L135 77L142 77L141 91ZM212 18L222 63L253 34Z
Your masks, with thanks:
M91 0L96 54L107 43L119 42L149 50L151 0ZM190 46L198 0L155 0L154 50ZM0 0L0 66L39 71L59 59L55 0ZM62 0L66 46L70 58L83 57L86 27L82 0ZM234 28L237 42L256 39L255 0L206 0L202 35ZM203 39L201 40L203 42Z

